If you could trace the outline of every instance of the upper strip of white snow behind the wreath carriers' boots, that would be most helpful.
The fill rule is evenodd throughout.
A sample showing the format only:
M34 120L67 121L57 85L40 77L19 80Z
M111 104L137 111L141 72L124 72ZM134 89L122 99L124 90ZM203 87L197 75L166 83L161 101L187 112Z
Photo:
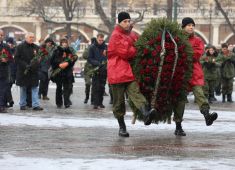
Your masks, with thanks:
M112 114L110 112L110 114ZM131 130L173 130L175 126L160 123L158 125L144 126L143 122L136 121L135 125L131 124L131 112L127 113L126 124ZM226 128L225 123L226 122ZM173 124L173 121L172 121ZM36 126L36 127L104 127L117 128L115 118L84 118L84 117L51 117L44 118L40 115L33 116L18 116L11 114L0 114L0 125L9 126ZM205 120L203 115L197 110L186 110L184 115L183 127L186 131L202 131L226 133L235 131L235 116L234 112L218 111L218 119L213 126L205 128Z

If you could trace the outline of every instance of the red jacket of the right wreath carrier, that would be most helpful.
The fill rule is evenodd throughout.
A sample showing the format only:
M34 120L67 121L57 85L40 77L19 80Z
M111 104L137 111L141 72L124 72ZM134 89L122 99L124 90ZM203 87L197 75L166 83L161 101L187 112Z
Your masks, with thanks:
M189 37L189 43L193 48L193 74L190 80L191 87L193 86L203 86L204 85L204 73L202 70L202 65L200 63L200 58L204 53L204 43L203 41L193 35Z

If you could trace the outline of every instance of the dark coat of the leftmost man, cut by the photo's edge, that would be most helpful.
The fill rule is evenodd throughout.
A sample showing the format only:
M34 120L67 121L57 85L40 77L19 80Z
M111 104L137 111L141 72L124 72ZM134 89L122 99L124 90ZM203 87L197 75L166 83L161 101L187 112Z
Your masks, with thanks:
M8 59L10 60L12 57L9 46L3 42L0 42L0 51L3 49L6 50ZM4 63L0 61L0 80L9 80L9 62Z

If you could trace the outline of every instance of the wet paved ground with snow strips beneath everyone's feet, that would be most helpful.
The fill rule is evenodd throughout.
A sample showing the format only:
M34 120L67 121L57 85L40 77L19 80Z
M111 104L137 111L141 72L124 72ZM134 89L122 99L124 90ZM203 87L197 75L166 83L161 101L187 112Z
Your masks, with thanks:
M235 169L235 104L212 104L219 118L211 127L189 96L183 122L186 137L175 137L174 124L131 124L130 138L120 138L109 97L105 109L83 104L84 83L77 79L73 106L57 109L55 85L42 112L20 111L15 105L0 114L0 169ZM108 90L106 90L108 91ZM18 101L19 90L13 89ZM234 97L235 98L235 97Z

